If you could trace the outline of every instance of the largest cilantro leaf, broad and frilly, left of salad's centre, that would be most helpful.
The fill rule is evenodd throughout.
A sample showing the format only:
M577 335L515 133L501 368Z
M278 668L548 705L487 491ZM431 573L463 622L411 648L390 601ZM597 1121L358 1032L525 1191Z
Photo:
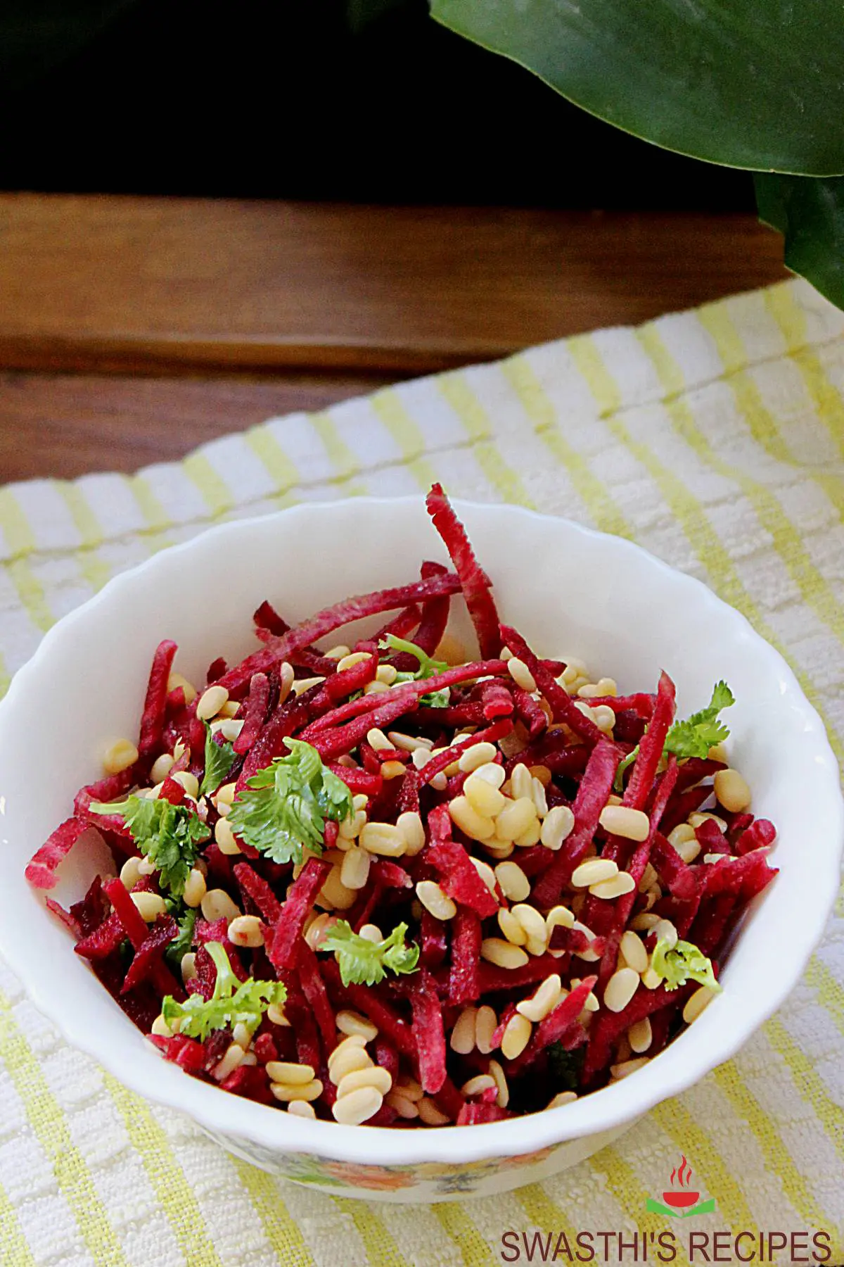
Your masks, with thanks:
M289 756L276 756L234 798L229 822L235 835L275 863L302 860L302 845L323 850L325 820L354 812L352 793L315 748L286 739Z

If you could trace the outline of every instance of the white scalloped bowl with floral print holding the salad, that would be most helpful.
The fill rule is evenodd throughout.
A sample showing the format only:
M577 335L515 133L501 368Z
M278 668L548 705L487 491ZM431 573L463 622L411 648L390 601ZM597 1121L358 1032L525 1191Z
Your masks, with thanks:
M162 637L176 639L180 669L199 679L215 656L254 646L251 613L263 598L299 620L413 579L421 559L445 557L421 498L299 506L166 550L59 621L0 704L0 952L35 1005L128 1087L187 1112L225 1148L348 1196L490 1195L588 1157L726 1060L771 1016L820 939L839 883L844 816L824 727L791 669L742 616L620 538L512 507L457 509L502 618L539 651L577 655L625 692L653 689L666 668L681 716L726 679L736 697L731 758L755 812L779 832L779 878L745 920L724 993L644 1069L577 1102L483 1126L390 1130L309 1121L228 1095L161 1059L24 881L76 789L97 777L106 742L137 732ZM56 896L75 900L92 873L90 858L72 855Z

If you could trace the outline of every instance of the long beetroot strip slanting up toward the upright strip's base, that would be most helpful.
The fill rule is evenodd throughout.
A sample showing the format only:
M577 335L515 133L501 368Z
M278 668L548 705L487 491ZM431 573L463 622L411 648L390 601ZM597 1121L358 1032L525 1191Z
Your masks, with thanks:
M359 594L347 598L342 603L316 612L309 620L296 625L295 628L282 634L278 639L264 644L259 651L248 655L245 660L229 669L220 678L219 684L227 691L238 691L245 685L253 673L266 673L280 660L289 660L296 651L310 646L326 634L333 634L343 625L363 620L364 616L377 616L380 612L388 612L395 607L406 607L424 598L435 598L438 594L454 594L459 590L459 579L452 573L443 576L431 576L430 580L418 580L410 585L397 585L392 589L378 589L371 594Z

